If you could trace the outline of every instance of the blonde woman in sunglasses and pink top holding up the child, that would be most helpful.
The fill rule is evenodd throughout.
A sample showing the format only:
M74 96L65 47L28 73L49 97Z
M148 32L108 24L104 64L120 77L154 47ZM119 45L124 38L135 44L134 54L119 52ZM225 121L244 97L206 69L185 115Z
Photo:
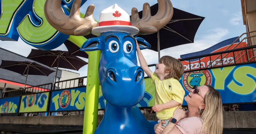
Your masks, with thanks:
M195 86L184 99L189 111L177 108L172 117L177 125L169 122L165 128L165 122L159 122L154 127L156 134L222 134L223 109L217 90L210 85Z

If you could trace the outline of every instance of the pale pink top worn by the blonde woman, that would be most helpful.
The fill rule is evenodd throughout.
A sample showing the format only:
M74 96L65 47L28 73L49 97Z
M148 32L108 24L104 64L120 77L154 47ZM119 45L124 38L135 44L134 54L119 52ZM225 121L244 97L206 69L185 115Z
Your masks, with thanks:
M203 120L199 117L184 118L176 125L183 134L199 134Z

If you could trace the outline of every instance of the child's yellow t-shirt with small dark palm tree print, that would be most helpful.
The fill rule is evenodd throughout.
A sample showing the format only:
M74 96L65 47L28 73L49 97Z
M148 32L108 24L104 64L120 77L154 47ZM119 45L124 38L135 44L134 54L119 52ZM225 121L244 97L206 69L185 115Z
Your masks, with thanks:
M152 72L151 82L155 85L155 105L167 103L171 100L183 103L185 91L182 88L178 80L174 78L166 79L163 81L159 80L157 74ZM159 120L167 120L173 116L174 110L177 108L163 109L157 112L157 118Z

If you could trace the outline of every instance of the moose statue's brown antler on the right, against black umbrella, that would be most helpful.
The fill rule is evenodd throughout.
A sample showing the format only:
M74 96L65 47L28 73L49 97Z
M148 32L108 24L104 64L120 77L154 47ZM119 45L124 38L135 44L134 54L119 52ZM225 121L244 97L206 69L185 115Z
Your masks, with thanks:
M157 14L151 16L150 5L143 4L143 14L140 19L137 8L132 8L131 23L134 27L139 28L140 35L155 33L163 28L172 19L173 7L170 0L157 0Z

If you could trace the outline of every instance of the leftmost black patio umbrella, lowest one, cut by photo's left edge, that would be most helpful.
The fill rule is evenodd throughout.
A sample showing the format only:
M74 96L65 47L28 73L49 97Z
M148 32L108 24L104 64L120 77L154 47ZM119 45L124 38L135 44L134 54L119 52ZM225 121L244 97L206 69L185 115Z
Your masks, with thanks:
M21 75L26 75L25 88L27 84L27 75L49 76L54 70L46 68L36 62L31 61L5 61L2 60L0 68L10 70Z

